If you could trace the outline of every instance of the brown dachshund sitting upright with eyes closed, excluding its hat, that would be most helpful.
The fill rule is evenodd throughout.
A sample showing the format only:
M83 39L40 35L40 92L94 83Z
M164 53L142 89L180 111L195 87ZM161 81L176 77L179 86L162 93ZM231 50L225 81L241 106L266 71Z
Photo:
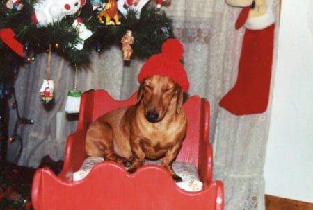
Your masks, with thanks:
M154 75L145 78L136 105L120 107L90 124L86 152L129 167L134 173L145 158L162 159L175 182L182 181L172 162L182 147L187 119L182 109L183 91L174 80Z

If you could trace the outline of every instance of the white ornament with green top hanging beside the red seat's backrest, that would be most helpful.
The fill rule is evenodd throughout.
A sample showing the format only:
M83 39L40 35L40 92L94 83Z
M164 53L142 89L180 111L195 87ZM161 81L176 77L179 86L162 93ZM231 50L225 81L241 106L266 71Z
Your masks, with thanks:
M65 103L65 112L68 114L78 113L81 104L81 91L77 91L77 64L75 64L74 90L68 91Z

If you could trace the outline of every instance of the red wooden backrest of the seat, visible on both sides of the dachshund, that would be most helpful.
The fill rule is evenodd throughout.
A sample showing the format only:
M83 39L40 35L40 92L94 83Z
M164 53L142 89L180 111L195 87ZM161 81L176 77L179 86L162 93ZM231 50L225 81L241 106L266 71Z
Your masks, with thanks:
M127 100L115 100L103 89L86 91L81 98L79 122L77 130L88 126L102 114L125 105L136 103L134 93ZM195 166L207 165L199 163L199 159L207 161L207 143L209 143L209 103L200 96L189 97L183 105L188 119L186 138L177 161L188 161Z

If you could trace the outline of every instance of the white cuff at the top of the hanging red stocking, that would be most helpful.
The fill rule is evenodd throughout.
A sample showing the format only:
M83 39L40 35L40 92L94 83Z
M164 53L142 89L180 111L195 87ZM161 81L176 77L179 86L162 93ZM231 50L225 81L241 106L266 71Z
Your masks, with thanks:
M267 11L264 15L259 17L248 18L243 26L250 30L262 30L273 24L274 21L275 18L273 12Z

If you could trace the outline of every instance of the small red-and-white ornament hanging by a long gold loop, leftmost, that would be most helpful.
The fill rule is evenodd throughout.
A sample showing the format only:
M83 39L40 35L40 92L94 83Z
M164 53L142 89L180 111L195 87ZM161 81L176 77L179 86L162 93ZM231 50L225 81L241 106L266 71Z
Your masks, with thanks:
M51 44L48 49L47 78L43 80L40 88L40 96L45 103L49 103L54 98L54 80L50 79L51 71Z

